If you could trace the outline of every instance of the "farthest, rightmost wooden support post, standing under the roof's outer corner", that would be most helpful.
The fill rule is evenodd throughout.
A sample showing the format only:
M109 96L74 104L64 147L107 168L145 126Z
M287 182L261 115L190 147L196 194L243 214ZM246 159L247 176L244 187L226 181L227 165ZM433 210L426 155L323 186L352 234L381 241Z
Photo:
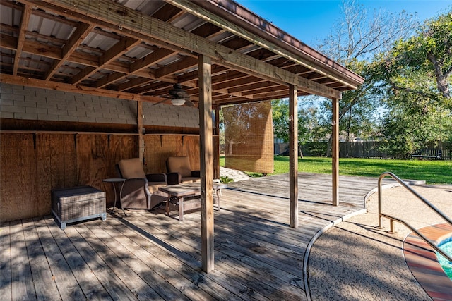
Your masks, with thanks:
M339 98L333 102L333 120L331 122L333 135L331 141L332 178L333 178L333 206L339 205Z

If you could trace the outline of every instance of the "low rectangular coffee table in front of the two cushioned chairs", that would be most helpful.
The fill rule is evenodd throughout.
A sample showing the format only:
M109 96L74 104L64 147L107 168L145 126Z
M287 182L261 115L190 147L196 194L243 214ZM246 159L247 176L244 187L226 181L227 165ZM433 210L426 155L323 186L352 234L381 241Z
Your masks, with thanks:
M213 203L217 204L218 211L220 211L222 188L227 188L227 185L222 183L213 183ZM169 195L169 198L167 199L166 214L169 216L169 207L177 207L179 210L179 221L184 220L184 211L201 208L200 183L168 185L159 187L158 190Z

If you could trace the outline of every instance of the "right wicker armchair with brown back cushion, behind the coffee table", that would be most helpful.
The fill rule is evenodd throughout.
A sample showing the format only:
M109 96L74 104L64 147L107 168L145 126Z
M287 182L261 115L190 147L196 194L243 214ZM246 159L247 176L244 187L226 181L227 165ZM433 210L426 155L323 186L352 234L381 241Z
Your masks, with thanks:
M201 172L191 170L188 156L170 156L167 171L168 185L201 181Z

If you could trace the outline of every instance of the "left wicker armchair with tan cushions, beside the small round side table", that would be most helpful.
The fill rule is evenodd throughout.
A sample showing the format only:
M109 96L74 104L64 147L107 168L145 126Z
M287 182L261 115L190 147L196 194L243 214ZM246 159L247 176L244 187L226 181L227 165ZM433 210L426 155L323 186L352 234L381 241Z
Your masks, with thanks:
M116 164L120 178L125 178L119 196L122 207L129 209L155 209L167 200L167 194L160 192L160 186L167 185L165 173L145 174L139 158L124 159Z

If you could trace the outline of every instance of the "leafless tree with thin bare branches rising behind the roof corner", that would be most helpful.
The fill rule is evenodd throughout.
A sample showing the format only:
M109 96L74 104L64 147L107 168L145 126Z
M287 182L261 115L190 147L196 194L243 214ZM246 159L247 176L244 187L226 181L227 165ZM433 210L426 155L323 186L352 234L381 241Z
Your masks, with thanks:
M355 1L343 2L343 19L319 48L365 79L357 90L343 92L340 101L340 131L345 133L347 140L352 133L371 135L374 132L374 112L379 107L379 95L371 93L376 82L373 75L366 72L369 60L388 51L396 40L410 35L416 24L414 16L405 11L398 15L384 11L369 13ZM331 104L323 102L321 111L328 116L324 126L331 132ZM326 156L331 154L331 136L328 145Z

